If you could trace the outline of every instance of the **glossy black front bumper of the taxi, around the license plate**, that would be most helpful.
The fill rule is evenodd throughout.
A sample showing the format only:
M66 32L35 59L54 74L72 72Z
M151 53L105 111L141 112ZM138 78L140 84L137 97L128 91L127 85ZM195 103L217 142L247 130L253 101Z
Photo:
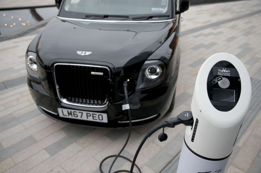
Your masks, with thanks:
M133 126L147 124L166 114L173 98L177 76L178 75L176 75L169 83L164 83L163 85L158 85L147 90L136 90L131 96L129 96ZM109 102L106 107L102 108L69 105L62 103L58 97L50 96L44 90L41 83L31 79L30 76L27 77L27 84L39 110L50 118L92 127L129 127L127 111L122 111L122 101L118 103ZM58 108L106 113L108 116L108 123L62 118L58 115Z

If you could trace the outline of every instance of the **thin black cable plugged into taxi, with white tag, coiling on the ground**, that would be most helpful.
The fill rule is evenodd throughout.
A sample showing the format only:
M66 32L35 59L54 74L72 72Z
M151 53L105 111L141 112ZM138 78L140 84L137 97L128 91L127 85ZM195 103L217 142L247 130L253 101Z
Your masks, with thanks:
M129 134L128 134L128 137L127 137L127 139L126 139L125 144L123 145L122 149L120 150L120 152L119 152L117 155L109 155L109 156L107 156L106 158L104 158L104 159L101 161L100 167L99 167L101 173L104 173L104 172L102 171L102 164L103 164L103 162L104 162L105 160L107 160L108 158L115 157L114 160L113 160L113 162L112 162L112 164L111 164L111 166L110 166L109 173L111 173L112 167L113 167L115 161L116 161L119 157L120 157L120 158L123 158L123 159L126 159L126 160L128 160L128 161L130 161L130 162L132 162L132 160L130 160L129 158L127 158L127 157L121 155L122 151L124 150L124 148L126 147L128 141L129 141L130 134L131 134L131 127L132 127L127 87L128 87L128 83L127 83L127 81L124 81L124 82L123 82L123 89L124 89L124 95L125 95L126 104L122 105L122 110L127 110L127 111L128 111L128 115L129 115ZM134 165L137 167L137 169L138 169L139 172L141 173L140 168L139 168L136 164L134 164ZM133 165L133 167L134 167L134 165ZM117 171L115 171L115 172L113 172L113 173L117 173L117 172L130 172L130 171L129 171L129 170L117 170Z

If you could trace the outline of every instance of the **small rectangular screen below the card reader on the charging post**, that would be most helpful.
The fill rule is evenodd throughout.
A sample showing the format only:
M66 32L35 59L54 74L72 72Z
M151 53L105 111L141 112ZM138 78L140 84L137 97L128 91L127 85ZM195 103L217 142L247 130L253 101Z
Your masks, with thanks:
M212 100L222 102L235 102L235 90L213 88Z

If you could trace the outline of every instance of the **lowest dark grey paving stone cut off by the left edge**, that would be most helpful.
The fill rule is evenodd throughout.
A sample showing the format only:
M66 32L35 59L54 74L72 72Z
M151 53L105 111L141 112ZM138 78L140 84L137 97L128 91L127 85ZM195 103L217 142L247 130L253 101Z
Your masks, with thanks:
M34 142L36 142L36 140L33 138L33 136L28 136L27 138L24 138L23 140L11 145L10 147L7 147L7 148L1 150L0 151L0 161L3 161L4 159L10 157L11 155L30 146Z

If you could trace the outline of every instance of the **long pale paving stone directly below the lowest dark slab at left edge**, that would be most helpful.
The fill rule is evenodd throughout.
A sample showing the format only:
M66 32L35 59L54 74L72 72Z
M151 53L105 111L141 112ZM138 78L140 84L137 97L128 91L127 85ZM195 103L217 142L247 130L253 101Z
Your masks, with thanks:
M62 130L59 130L47 136L46 138L43 138L40 141L35 142L31 146L21 150L20 152L17 152L16 154L12 155L11 158L14 160L16 164L18 164L21 161L27 159L28 157L31 157L32 155L43 150L44 148L50 146L52 143L58 141L64 136L66 136L66 134Z

